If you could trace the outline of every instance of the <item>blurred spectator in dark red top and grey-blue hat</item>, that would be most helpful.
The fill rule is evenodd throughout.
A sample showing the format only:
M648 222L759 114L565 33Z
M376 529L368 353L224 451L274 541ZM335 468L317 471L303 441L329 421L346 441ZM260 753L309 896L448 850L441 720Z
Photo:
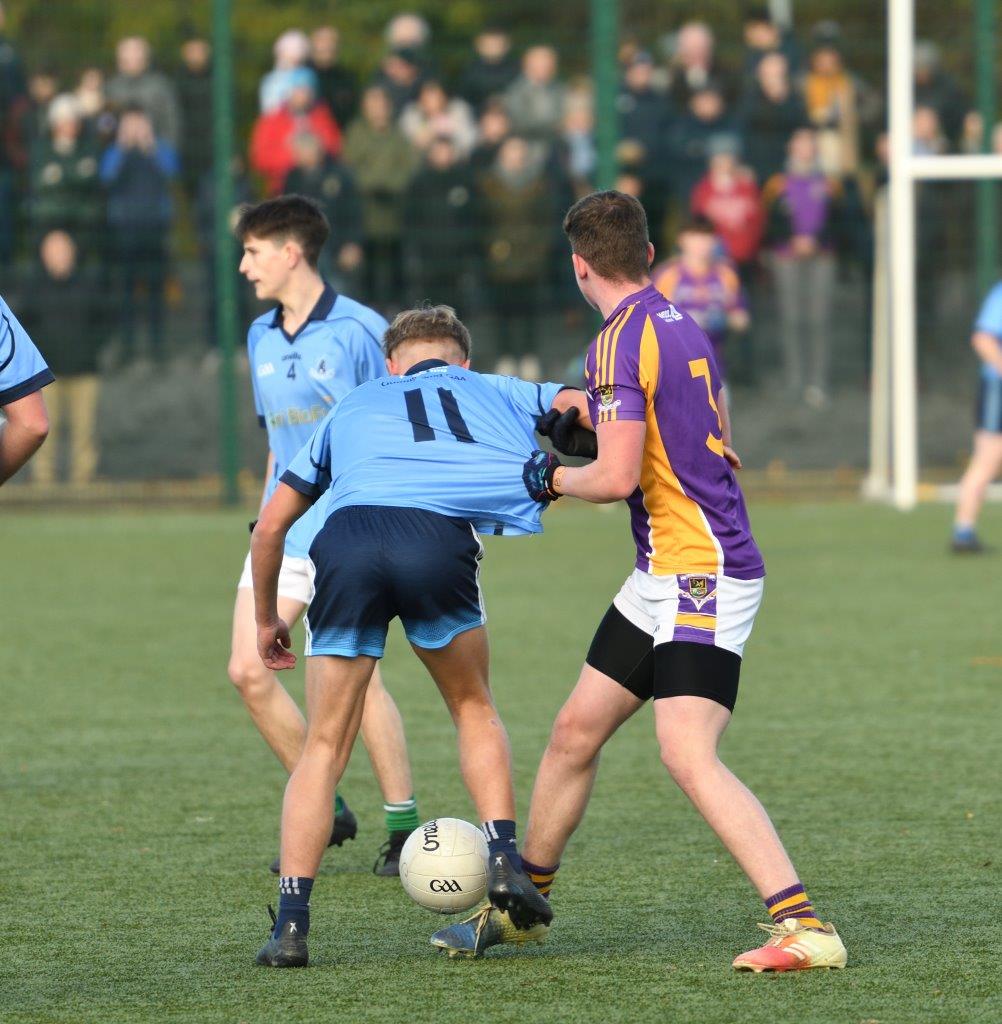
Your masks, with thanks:
M737 264L742 279L754 265L766 226L761 194L754 174L738 160L737 136L709 143L709 168L692 193L692 212L705 217Z

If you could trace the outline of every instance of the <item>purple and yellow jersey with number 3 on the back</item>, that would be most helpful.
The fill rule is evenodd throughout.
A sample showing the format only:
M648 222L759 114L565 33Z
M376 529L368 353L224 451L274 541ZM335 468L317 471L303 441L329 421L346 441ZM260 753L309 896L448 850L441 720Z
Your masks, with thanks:
M647 425L640 486L627 499L637 567L654 575L765 575L724 458L712 347L696 323L650 285L602 325L584 377L597 427Z

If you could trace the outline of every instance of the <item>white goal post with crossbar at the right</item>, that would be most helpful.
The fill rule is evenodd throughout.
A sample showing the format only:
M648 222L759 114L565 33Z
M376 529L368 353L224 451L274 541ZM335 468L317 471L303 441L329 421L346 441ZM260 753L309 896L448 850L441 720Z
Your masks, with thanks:
M915 0L887 0L890 93L886 213L878 204L870 377L870 471L864 495L911 509L918 500L915 182L1002 179L1002 156L914 156Z

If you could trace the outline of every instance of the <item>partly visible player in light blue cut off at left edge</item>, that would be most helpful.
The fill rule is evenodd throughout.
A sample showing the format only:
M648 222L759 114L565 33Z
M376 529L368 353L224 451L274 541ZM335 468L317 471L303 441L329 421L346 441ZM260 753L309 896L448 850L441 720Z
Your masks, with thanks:
M49 418L42 388L55 378L0 298L0 484L42 446Z

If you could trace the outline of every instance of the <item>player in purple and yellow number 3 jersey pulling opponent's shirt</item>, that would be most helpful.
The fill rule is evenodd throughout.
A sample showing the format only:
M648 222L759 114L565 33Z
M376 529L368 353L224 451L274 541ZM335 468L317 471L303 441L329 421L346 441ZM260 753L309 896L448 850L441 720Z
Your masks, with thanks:
M605 317L585 362L598 458L562 466L536 452L525 483L537 501L563 494L626 499L637 562L599 626L560 711L532 794L526 872L549 894L587 806L599 754L650 698L661 760L769 908L769 942L734 967L790 971L845 966L845 947L816 916L761 804L721 762L741 657L765 567L751 536L721 416L721 381L705 334L650 280L654 247L640 203L593 193L564 220L574 275ZM796 759L785 766L795 777ZM485 908L433 944L477 955L517 941ZM541 938L537 924L533 938Z

